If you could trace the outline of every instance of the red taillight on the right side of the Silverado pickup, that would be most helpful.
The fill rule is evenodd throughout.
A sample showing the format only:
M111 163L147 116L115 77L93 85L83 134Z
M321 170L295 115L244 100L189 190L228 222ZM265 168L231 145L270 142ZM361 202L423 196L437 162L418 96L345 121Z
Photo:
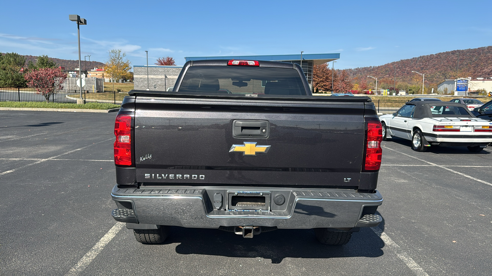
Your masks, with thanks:
M367 143L365 170L378 170L381 166L381 140L383 139L383 128L378 119L366 118Z

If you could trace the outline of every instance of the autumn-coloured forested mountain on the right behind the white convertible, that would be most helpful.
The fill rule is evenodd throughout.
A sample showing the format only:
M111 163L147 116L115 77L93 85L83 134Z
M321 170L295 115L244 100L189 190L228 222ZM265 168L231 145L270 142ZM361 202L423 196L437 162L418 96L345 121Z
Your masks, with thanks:
M456 65L460 54L459 71ZM378 87L393 86L396 66L397 87L401 85L422 85L422 76L412 73L417 71L425 74L425 85L435 87L446 79L472 77L492 77L492 46L476 49L456 50L434 55L422 55L410 59L402 59L381 66L347 69L352 83L369 83L378 78ZM380 86L381 85L381 86Z

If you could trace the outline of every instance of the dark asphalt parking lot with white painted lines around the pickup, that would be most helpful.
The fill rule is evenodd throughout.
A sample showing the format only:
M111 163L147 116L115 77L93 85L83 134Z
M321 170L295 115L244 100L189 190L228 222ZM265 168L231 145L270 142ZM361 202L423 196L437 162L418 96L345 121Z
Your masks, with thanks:
M0 111L0 275L491 275L492 153L383 145L384 221L341 247L172 227L142 245L110 215L115 113Z

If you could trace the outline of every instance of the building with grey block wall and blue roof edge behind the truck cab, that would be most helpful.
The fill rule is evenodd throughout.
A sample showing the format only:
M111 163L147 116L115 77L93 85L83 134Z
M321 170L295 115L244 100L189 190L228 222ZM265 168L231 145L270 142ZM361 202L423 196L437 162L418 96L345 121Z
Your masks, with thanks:
M302 59L301 59L302 58ZM283 61L289 63L302 63L304 74L309 86L312 88L312 67L340 58L340 54L303 54L298 55L237 55L237 56L190 56L186 61L203 59L244 59L244 60L268 60ZM302 61L301 61L302 60ZM178 79L183 66L160 65L135 65L133 66L133 81L135 89L165 91L173 87Z

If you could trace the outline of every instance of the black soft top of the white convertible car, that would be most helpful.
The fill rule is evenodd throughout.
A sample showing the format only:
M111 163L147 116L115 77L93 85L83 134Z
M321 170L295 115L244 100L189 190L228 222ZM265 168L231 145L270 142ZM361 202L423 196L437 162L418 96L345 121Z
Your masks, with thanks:
M415 106L415 112L413 115L415 119L436 117L475 117L465 105L459 103L432 101L408 102L405 105ZM440 110L439 107L444 107L444 110L442 110L442 114L435 114L432 113L432 107L436 107L434 108L435 110ZM462 109L449 109L449 107L461 107ZM446 111L446 109L448 111Z

